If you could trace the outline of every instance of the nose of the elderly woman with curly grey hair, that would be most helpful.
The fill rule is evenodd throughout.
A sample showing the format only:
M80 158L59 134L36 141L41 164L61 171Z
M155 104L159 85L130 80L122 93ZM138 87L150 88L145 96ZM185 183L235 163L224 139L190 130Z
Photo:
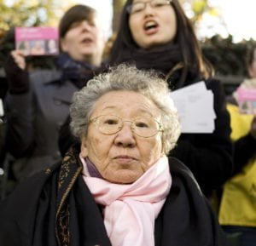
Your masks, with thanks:
M124 123L123 128L117 133L114 144L116 146L132 148L136 145L136 140L131 129L131 123Z

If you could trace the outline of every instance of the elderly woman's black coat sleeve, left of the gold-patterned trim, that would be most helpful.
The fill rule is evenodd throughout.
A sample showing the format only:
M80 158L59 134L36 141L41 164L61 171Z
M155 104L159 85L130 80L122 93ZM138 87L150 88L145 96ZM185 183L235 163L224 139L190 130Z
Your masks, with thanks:
M56 246L53 225L58 172L55 169L59 166L60 163L53 165L50 174L43 171L23 180L0 202L1 246ZM40 240L38 235L42 236Z

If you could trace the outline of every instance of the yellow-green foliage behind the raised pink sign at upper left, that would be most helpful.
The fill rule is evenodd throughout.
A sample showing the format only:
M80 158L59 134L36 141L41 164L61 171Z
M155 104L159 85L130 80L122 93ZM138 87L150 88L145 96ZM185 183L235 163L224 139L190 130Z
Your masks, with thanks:
M10 7L0 0L0 67L9 52L15 49L15 26L56 26L55 0L16 0ZM32 67L55 67L54 57L28 57Z

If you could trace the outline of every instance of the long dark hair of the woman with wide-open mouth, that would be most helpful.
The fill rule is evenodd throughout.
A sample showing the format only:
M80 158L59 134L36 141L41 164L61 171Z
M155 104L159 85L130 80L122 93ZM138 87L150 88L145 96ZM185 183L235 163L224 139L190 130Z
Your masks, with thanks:
M127 6L131 5L132 2L133 0L127 0L122 11L119 31L109 56L111 65L118 65L124 62L127 49L140 49L132 38L129 27L129 13L126 10ZM177 34L172 43L177 44L178 49L180 49L183 79L185 79L188 72L193 72L205 78L212 76L212 66L204 58L200 44L195 37L194 28L184 14L182 6L178 3L178 0L172 0L170 4L172 4L177 18ZM172 68L170 67L170 71L172 71Z

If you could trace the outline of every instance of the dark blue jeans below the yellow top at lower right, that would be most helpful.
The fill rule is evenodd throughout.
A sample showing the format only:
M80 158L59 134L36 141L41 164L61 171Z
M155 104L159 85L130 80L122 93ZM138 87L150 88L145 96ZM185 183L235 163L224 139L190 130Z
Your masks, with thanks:
M247 226L222 226L224 232L233 240L233 245L256 246L256 227ZM235 238L236 242L235 243Z

